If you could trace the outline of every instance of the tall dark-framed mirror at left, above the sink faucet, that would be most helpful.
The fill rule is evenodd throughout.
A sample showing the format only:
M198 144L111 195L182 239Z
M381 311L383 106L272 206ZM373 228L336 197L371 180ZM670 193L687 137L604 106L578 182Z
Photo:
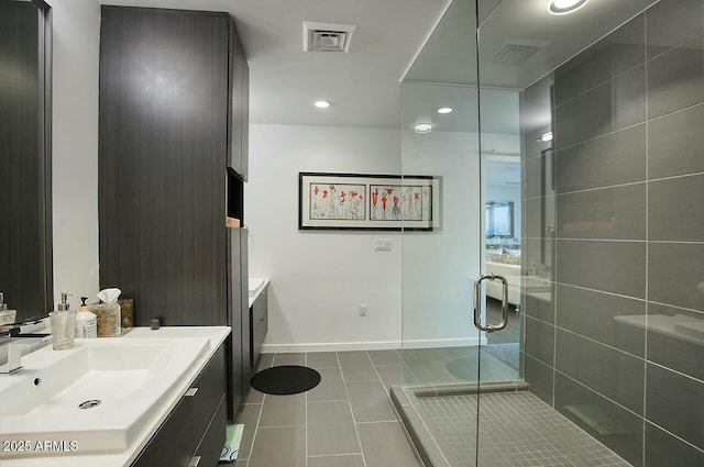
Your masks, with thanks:
M0 291L15 321L53 309L51 8L0 0Z

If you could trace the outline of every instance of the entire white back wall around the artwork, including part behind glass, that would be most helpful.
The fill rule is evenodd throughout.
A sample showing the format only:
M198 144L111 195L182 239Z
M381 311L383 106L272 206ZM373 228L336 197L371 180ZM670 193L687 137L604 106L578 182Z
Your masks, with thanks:
M517 138L490 137L517 151ZM245 221L250 277L272 281L265 352L391 348L402 335L410 345L476 343L476 135L404 134L403 170L442 177L433 232L407 233L402 242L397 232L298 230L299 171L400 174L400 138L389 130L251 125ZM374 252L380 237L392 240L391 252ZM359 303L369 305L366 318L358 315Z

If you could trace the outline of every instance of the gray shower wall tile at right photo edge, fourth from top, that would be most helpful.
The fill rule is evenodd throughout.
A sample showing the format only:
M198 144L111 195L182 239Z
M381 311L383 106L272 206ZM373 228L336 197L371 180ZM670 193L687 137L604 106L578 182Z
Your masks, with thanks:
M654 241L704 242L704 175L648 184L648 235Z

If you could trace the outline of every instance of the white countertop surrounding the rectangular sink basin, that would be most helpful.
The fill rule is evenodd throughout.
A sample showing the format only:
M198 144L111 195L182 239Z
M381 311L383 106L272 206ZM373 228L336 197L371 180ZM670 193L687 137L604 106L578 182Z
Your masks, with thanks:
M204 355L193 365L193 367L186 373L180 382L167 394L162 398L161 407L155 412L156 414L148 421L144 430L136 437L136 441L132 445L120 453L116 454L101 454L101 455L70 455L64 454L61 456L42 456L42 457L26 457L26 458L11 458L2 459L2 467L124 467L130 466L146 446L154 433L158 430L161 424L166 420L172 410L176 407L184 393L190 385L195 381L196 377L206 367L207 363L215 355L220 344L224 342L230 334L230 327L228 326L178 326L178 327L161 327L160 330L152 331L148 327L134 327L131 332L120 337L123 340L139 340L139 338L179 338L179 337L204 337L210 340L210 348L204 353ZM16 376L9 376L8 378L21 377L21 374ZM0 446L1 448L1 446Z

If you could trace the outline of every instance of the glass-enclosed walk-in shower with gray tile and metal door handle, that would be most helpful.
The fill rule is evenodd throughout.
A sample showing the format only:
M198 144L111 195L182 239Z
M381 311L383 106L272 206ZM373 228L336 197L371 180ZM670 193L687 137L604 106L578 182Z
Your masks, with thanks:
M568 3L453 0L402 85L427 466L704 466L704 1Z

